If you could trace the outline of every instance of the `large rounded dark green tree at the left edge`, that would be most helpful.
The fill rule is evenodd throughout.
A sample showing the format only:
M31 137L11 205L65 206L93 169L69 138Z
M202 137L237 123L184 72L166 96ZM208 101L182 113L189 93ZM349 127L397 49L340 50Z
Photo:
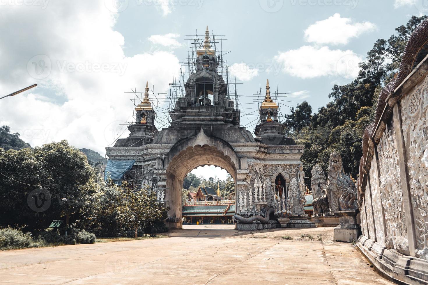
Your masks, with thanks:
M0 225L46 228L86 205L96 191L86 156L67 141L0 149Z

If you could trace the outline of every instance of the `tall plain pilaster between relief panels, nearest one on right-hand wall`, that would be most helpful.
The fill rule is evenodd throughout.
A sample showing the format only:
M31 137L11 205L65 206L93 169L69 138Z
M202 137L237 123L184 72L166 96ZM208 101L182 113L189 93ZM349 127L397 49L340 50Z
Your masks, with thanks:
M392 121L394 125L395 138L397 139L398 167L400 168L401 187L403 191L403 206L406 213L407 241L409 243L410 256L416 256L416 237L414 235L415 226L413 224L410 183L407 179L408 170L406 146L404 144L404 137L401 129L401 112L398 108L398 103L394 105Z

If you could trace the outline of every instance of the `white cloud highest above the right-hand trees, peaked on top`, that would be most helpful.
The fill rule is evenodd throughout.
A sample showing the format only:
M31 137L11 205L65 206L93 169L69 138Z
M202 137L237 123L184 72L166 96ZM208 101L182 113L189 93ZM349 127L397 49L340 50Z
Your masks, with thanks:
M326 20L310 25L305 30L305 39L317 44L348 44L351 38L357 38L375 28L373 23L354 23L351 18L341 18L340 14L336 13Z

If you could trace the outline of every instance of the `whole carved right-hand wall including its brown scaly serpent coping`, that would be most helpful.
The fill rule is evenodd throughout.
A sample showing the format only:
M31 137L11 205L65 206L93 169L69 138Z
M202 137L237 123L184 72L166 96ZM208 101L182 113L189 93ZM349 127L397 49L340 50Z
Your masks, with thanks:
M410 35L363 135L358 247L394 278L428 281L428 19ZM383 256L387 256L386 258ZM406 279L395 261L407 258ZM403 261L401 261L403 262ZM400 273L401 272L401 273ZM394 275L395 274L395 275Z

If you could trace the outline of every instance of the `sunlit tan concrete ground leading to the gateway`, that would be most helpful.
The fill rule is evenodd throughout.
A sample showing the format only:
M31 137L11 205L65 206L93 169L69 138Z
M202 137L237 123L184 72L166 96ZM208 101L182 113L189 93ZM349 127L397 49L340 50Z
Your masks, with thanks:
M302 233L315 240L300 240ZM3 251L0 283L392 284L351 244L332 241L333 228L238 232L201 225L168 235ZM280 238L286 235L293 240Z

